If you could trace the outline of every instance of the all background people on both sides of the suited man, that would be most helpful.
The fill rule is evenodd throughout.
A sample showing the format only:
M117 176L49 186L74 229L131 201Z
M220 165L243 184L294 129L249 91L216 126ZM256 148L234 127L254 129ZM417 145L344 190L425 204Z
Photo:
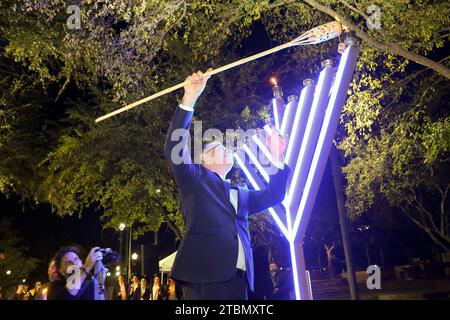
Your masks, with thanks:
M28 290L26 284L19 284L9 297L9 300L181 300L183 293L181 286L170 277L162 283L158 274L152 277L133 275L129 281L123 274L117 275L117 281L104 290L99 290L98 276L94 275L95 266L102 260L98 248L92 248L85 261L80 258L80 249L76 246L61 248L50 261L47 269L48 282L42 284L37 281ZM80 271L79 288L71 288L70 266L78 267ZM255 290L250 296L254 300L288 300L291 281L286 270L272 262L267 270L270 275L268 288L262 295ZM101 282L101 280L100 280ZM266 286L267 287L267 286ZM255 288L256 289L256 288ZM99 293L100 292L100 293Z

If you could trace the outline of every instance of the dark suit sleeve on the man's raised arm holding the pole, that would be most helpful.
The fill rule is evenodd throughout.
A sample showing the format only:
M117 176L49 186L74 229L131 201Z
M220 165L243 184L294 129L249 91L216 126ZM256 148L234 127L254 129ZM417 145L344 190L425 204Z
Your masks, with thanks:
M183 190L198 175L198 167L192 163L187 144L192 115L192 111L177 107L164 144L164 155L178 187Z

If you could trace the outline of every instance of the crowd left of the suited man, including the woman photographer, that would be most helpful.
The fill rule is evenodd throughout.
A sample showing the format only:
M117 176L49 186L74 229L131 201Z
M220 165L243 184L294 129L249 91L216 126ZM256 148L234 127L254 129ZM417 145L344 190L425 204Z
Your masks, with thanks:
M99 248L94 247L83 262L80 249L76 246L61 248L50 261L47 269L48 282L36 282L33 289L27 290L25 284L19 284L8 300L179 300L181 290L171 278L162 284L158 274L153 277L133 275L130 284L124 275L117 276L117 283L104 286L103 279L96 274L97 264L103 259ZM73 268L79 270L79 287L69 286Z

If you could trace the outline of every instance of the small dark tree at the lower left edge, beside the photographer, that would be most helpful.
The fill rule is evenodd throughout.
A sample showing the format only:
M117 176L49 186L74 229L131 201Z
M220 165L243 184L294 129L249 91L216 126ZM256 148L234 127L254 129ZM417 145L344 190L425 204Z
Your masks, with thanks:
M11 222L0 219L0 288L6 292L27 279L39 260L28 256L27 248L20 246L17 231L11 228Z

